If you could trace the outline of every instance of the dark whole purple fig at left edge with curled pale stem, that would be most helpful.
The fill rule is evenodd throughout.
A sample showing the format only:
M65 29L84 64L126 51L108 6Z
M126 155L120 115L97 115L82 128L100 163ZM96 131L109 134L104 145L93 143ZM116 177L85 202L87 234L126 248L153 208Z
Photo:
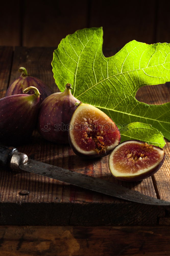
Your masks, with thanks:
M0 99L0 142L13 146L26 141L36 125L40 93L35 87L26 88L34 94L16 94Z

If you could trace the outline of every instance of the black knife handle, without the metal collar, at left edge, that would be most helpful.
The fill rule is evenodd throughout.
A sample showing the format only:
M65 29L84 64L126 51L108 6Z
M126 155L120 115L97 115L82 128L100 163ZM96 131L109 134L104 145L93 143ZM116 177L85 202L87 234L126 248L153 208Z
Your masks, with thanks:
M0 144L0 165L9 167L14 152L18 152L15 147L6 147Z

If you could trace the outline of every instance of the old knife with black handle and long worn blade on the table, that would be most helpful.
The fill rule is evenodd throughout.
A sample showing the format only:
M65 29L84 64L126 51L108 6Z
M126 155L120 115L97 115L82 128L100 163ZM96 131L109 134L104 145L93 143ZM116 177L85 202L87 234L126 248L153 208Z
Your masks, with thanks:
M15 147L0 145L0 165L15 170L24 170L60 180L78 187L97 191L106 195L139 202L148 205L170 205L170 202L143 195L137 191L120 186L118 184L95 178L54 165L28 159L24 153L18 152Z

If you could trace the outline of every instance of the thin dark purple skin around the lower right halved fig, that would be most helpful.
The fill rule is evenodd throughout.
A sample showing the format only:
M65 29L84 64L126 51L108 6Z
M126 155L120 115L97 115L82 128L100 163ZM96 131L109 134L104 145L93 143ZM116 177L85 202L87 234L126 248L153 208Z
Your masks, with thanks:
M143 142L143 141L138 141L138 140L129 140L129 141L124 141L124 142L132 142L132 141L136 141L136 142L139 142L139 143L145 143L145 142ZM120 143L119 145L124 144L124 142ZM114 150L113 150L112 152L116 151L117 147L118 147L118 145L114 148ZM160 147L153 146L153 145L152 145L152 147L155 148L155 149L157 148L157 149L159 149L160 151L163 151L163 149L160 148ZM113 175L116 179L119 179L119 180L122 180L122 181L128 181L128 182L130 182L130 181L141 181L141 180L143 180L143 179L146 179L146 178L152 176L153 174L155 174L155 173L161 168L161 166L163 165L164 160L165 160L165 152L163 151L163 153L164 153L164 154L163 154L163 158L162 158L162 160L161 160L160 163L158 163L154 168L148 170L148 171L145 172L145 173L141 173L141 174L139 174L139 175L130 176L130 174L129 174L129 176L125 176L125 177L124 177L124 176L114 176L113 173L112 173L112 171L111 171L111 166L110 166L110 164L109 164L109 168L110 168L110 171L111 171L112 175ZM111 155L109 156L109 160L110 160L110 157L111 157Z

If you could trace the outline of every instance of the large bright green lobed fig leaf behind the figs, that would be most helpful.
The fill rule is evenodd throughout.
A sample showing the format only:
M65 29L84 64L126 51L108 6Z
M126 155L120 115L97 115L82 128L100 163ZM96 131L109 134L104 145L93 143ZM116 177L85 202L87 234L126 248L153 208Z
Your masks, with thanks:
M71 83L77 99L101 109L116 124L151 124L170 140L170 103L148 105L135 99L140 87L170 81L170 44L133 40L109 58L103 55L102 44L102 28L78 30L62 39L52 61L58 88L64 91ZM136 128L140 139L143 128Z

